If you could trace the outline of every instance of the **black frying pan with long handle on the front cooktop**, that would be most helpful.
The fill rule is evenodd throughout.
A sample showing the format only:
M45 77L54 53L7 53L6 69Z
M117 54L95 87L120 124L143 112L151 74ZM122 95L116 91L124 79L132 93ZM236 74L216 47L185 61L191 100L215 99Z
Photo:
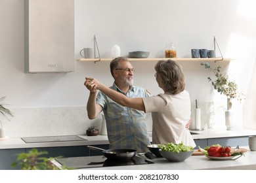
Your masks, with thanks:
M90 149L93 150L100 150L103 152L104 156L108 159L112 160L129 160L133 158L137 151L133 149L110 149L110 150L104 150L102 148L98 148L95 146L87 146Z

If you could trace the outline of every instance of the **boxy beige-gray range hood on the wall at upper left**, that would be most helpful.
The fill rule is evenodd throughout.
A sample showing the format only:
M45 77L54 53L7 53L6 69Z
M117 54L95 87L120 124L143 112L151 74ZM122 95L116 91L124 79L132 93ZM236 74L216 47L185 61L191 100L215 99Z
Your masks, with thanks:
M74 0L25 0L25 73L75 71Z

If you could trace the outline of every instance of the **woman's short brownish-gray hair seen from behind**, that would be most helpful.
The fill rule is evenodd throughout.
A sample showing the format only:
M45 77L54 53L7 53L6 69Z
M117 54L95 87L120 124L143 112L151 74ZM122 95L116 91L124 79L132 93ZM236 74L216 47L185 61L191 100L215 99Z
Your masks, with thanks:
M177 61L172 59L160 60L156 63L155 70L161 77L161 84L165 86L165 92L175 95L184 91L184 73Z

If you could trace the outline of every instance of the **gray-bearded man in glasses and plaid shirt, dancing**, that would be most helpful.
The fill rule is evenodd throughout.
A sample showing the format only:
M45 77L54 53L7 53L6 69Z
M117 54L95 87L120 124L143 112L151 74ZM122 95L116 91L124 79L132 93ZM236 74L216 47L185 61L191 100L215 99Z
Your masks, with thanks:
M133 86L135 69L127 58L115 58L110 63L110 71L114 78L114 84L110 87L127 97L149 97L150 93L143 88ZM146 129L146 114L141 110L123 107L104 95L102 92L96 94L95 88L85 82L90 91L87 102L87 113L89 119L94 119L104 112L108 140L110 148L129 148L137 152L148 151L147 145L150 139Z

